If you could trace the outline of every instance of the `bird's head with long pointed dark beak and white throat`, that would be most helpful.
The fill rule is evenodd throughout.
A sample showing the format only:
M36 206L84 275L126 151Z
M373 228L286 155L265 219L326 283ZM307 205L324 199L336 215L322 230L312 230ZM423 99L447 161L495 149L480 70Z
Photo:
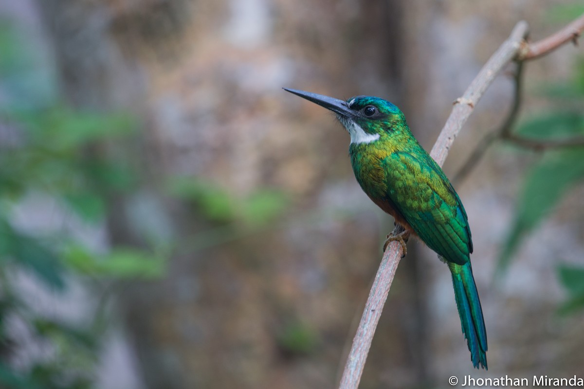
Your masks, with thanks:
M402 111L379 97L356 96L343 101L303 90L284 90L336 113L338 120L349 131L351 143L371 143L407 127Z

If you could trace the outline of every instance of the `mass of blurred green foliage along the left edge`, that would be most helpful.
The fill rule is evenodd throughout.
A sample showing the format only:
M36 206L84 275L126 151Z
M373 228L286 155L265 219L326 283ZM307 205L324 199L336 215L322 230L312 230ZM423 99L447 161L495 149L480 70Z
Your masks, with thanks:
M0 387L90 388L107 330L105 304L83 324L64 323L44 317L20 296L15 280L31 274L51 293L65 293L71 275L152 278L164 274L168 253L131 247L96 251L64 226L39 233L15 223L15 210L33 194L47 204L56 201L65 211L55 213L75 224L99 228L110 197L139 184L137 170L119 149L134 136L135 118L63 103L47 61L33 48L25 34L0 23ZM105 296L107 290L96 292ZM12 361L23 345L14 323L26 328L29 342L50 351L48 356L34 355L15 369Z

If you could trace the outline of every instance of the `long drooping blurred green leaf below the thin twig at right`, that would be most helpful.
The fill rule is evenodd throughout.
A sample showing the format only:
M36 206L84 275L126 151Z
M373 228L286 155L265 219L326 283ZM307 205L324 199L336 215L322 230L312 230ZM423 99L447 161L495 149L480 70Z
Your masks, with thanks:
M569 188L584 179L584 150L548 153L527 174L512 229L499 256L498 271L504 271L524 234L547 216Z

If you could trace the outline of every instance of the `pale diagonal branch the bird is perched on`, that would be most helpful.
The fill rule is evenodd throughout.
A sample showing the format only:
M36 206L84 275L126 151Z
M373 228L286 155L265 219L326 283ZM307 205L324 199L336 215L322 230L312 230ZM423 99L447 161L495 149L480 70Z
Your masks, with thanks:
M493 79L503 67L519 54L519 50L522 47L521 43L527 34L528 28L527 22L517 23L509 38L486 62L463 96L455 101L452 113L430 152L430 156L440 166L444 163L450 146L464 123L468 120L475 105L485 93L485 90L491 85ZM397 230L394 229L394 233L397 233ZM381 317L381 310L383 310L385 300L390 291L401 255L402 247L398 241L392 241L387 246L385 253L383 253L381 265L377 270L373 286L371 286L363 316L361 316L359 328L353 339L353 345L340 380L340 389L356 389L359 386L377 322Z

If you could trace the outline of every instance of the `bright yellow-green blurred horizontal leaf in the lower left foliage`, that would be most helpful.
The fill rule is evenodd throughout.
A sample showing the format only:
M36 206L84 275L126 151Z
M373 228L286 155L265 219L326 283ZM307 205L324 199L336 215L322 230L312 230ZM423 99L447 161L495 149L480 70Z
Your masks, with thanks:
M158 278L166 269L165 258L135 248L114 248L105 255L95 255L83 246L72 245L63 258L72 270L93 276Z

